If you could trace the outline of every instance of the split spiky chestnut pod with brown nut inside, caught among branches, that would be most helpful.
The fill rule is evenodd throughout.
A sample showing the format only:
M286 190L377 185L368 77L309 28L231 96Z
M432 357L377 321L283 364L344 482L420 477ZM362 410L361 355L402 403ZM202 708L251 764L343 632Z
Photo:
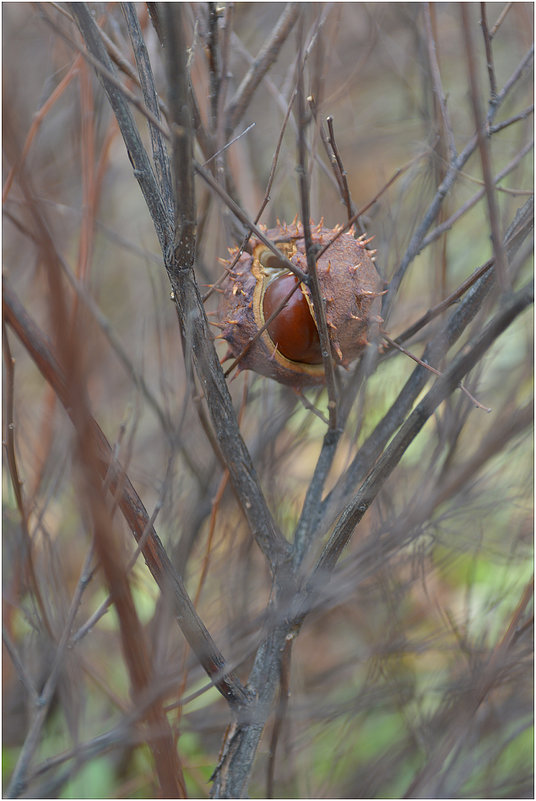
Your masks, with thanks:
M324 228L322 223L313 226L313 245L320 250L339 230L337 226ZM279 223L267 230L266 236L292 264L307 272L301 223ZM222 338L229 345L225 358L241 356L239 369L254 370L282 384L305 387L324 383L309 287L254 236L249 250L242 253L224 284L220 319ZM236 253L231 250L231 256ZM332 355L336 363L347 367L362 353L370 327L380 320L380 277L364 238L355 239L349 232L320 256L317 273ZM286 298L282 311L270 321Z

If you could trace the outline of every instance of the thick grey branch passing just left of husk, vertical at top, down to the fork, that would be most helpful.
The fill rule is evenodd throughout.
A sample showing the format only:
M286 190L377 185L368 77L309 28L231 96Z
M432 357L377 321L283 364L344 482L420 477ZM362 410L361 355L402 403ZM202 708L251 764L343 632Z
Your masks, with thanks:
M164 12L168 76L172 87L169 105L177 198L174 243L171 252L166 254L166 267L179 313L185 358L188 361L193 357L233 487L259 547L275 570L287 560L290 546L276 528L240 434L193 271L196 245L194 164L182 8L180 4L167 4Z

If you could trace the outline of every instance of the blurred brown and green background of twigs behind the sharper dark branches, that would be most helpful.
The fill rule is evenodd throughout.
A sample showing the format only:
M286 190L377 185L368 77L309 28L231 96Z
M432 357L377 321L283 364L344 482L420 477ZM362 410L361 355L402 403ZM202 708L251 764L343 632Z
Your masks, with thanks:
M135 7L165 99L161 46L145 5ZM120 4L91 8L132 67ZM222 5L222 20L229 8ZM201 119L211 131L209 8L193 3L185 9L192 86ZM232 16L226 12L225 19L231 20L227 97L240 85L283 9L280 3L235 3ZM330 227L347 219L319 135L319 123L325 127L326 117L332 116L353 203L358 209L371 204L361 223L374 236L371 247L377 249L385 281L396 271L446 171L425 9L460 152L475 123L458 4L315 3L300 9L305 44L310 44L305 91L314 96L317 115L308 132L311 213ZM485 9L489 28L498 24L492 43L500 91L532 46L533 6L492 3ZM32 235L31 196L62 262L92 414L149 514L156 513L156 530L203 621L245 681L270 596L269 572L200 423L151 219L102 88L65 38L79 41L66 12L66 6L56 4L2 7L4 275L53 344L51 287ZM480 4L468 4L485 114L490 84L481 13ZM252 127L225 154L230 189L252 218L265 196L293 91L296 47L293 30L234 135ZM493 175L504 173L496 193L502 234L533 188L531 66L528 61L494 121L511 124L490 139ZM120 75L139 91L125 71ZM137 111L135 116L148 143L146 123ZM199 144L195 157L205 161ZM269 227L299 213L296 162L291 115L261 217ZM219 259L236 244L236 231L223 204L201 182L196 193L203 292L220 276ZM411 264L385 321L391 337L492 255L478 151L431 230L449 220L445 233ZM514 288L530 277L530 255L529 247L516 268ZM497 302L494 296L468 335L482 327ZM215 312L217 307L215 293L207 308ZM412 352L422 355L436 323L411 340ZM251 797L264 797L268 790L289 798L413 797L412 782L438 758L435 745L445 732L454 739L437 767L442 775L438 797L532 797L531 596L526 594L533 520L531 323L528 313L517 319L471 375L472 394L491 413L454 393L410 446L356 531L294 645L277 758L270 760L272 717L255 764ZM15 425L10 431L23 510L12 466L5 464L4 631L39 690L80 587L92 535L80 500L71 423L24 347L6 330L4 341L15 367L13 377L6 380L4 373L4 423L11 422L12 403ZM225 347L217 347L223 357ZM327 490L413 368L407 356L396 353L369 377L350 414ZM230 389L268 504L290 539L325 426L289 388L268 379L241 373ZM324 393L308 397L325 409ZM4 432L4 440L7 436ZM341 499L341 510L350 499L351 494ZM117 511L114 530L131 556L135 544ZM29 553L35 583L29 579ZM188 792L208 797L229 722L227 706L214 688L198 693L206 676L161 603L143 560L132 569L131 586L158 679L166 687ZM40 732L30 771L34 797L155 794L147 746L126 733L113 742L104 737L129 707L115 612L110 609L87 631L83 628L105 599L97 570L84 586L72 632L75 644ZM467 698L512 621L516 635L508 641L502 670L487 688L485 703L468 720ZM6 782L27 741L34 710L20 666L5 651L3 666ZM267 779L270 770L273 784Z

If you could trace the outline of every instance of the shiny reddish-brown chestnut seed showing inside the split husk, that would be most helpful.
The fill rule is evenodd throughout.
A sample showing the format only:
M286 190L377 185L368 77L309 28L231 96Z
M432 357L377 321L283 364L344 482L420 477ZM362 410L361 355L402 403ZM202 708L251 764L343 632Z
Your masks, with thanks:
M263 298L265 320L297 284L298 279L292 273L275 278L268 284ZM267 331L274 345L287 359L305 364L322 363L318 330L300 286L268 325Z

